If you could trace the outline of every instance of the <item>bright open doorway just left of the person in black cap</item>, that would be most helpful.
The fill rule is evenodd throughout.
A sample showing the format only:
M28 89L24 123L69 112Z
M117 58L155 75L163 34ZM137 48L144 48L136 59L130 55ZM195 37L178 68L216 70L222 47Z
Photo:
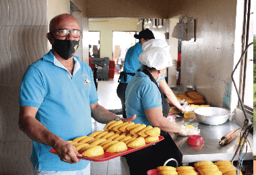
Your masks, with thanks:
M117 32L113 31L113 61L115 61L116 69L121 70L125 62L127 50L136 44L134 38L135 31Z

